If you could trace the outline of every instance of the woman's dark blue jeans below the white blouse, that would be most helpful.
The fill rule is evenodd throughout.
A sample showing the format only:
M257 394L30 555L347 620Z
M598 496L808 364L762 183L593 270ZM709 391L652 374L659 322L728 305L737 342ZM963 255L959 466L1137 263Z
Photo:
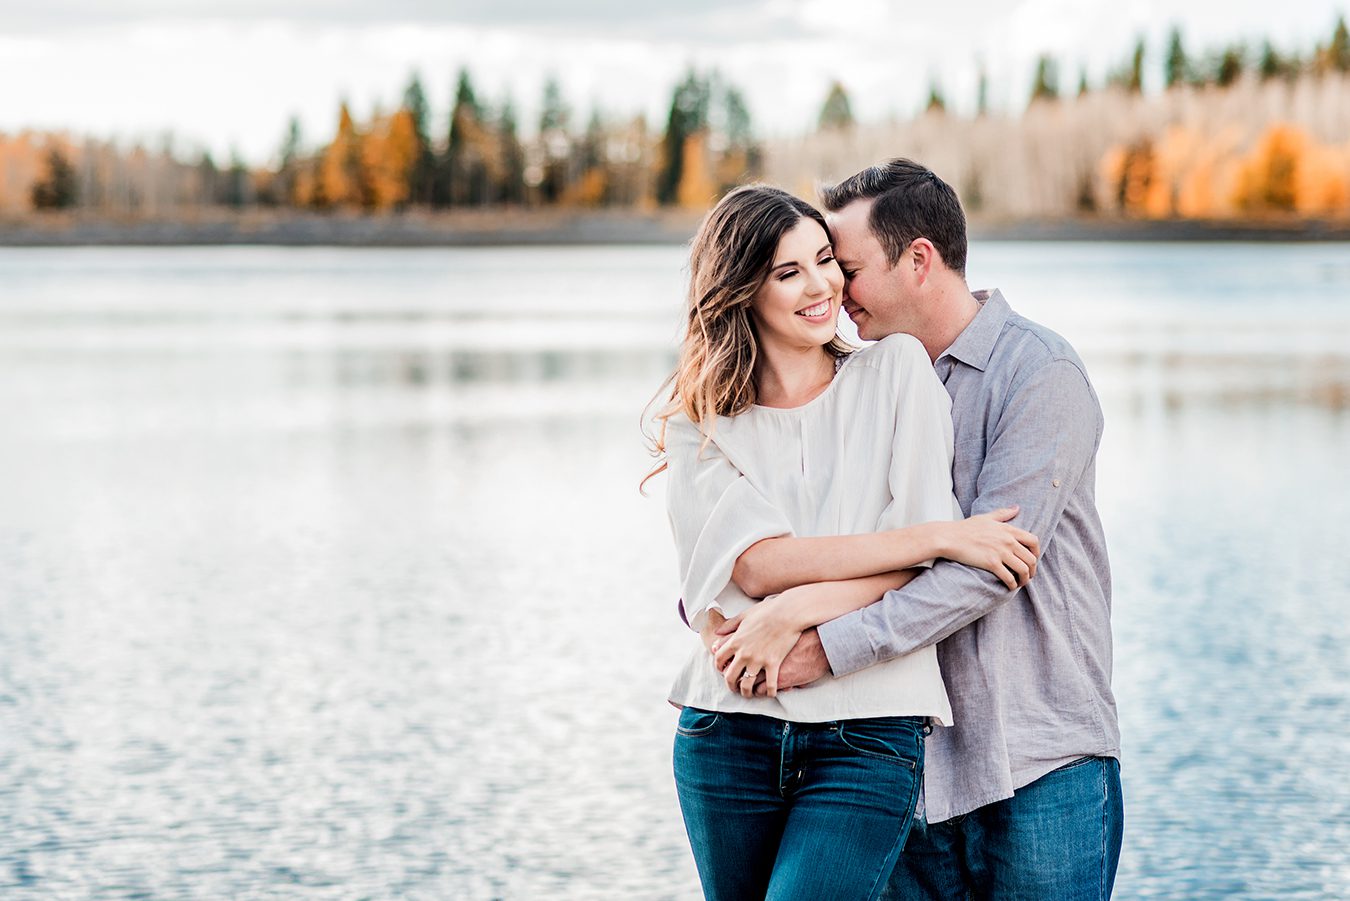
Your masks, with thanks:
M876 898L923 775L921 717L784 723L684 708L675 786L709 901Z

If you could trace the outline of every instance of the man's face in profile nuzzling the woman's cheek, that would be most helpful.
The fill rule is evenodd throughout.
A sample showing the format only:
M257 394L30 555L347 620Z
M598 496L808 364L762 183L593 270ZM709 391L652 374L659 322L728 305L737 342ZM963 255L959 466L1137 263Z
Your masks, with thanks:
M871 212L871 200L855 200L829 216L834 257L848 277L844 312L857 326L863 340L878 340L895 332L918 334L915 285L906 277L911 269L910 251L906 249L891 266L886 249L867 222Z

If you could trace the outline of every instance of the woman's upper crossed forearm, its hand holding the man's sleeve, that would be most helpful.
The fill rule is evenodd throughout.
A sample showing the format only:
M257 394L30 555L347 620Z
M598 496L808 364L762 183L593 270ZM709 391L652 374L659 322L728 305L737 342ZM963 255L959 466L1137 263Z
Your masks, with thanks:
M868 535L767 538L736 558L732 581L751 597L768 597L799 585L878 577L942 557L994 573L1008 589L1015 589L1035 573L1040 552L1034 535L1007 524L1017 512L1018 508L1007 507L965 520L921 523ZM886 590L890 589L882 594ZM819 621L829 619L833 617Z

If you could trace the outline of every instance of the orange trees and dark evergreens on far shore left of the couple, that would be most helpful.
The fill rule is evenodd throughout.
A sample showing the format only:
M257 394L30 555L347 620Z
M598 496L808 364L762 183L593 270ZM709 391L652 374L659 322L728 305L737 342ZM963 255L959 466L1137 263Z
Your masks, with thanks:
M8 205L38 209L702 207L759 177L763 157L740 89L693 69L674 86L659 132L643 116L598 109L582 123L551 78L526 138L513 103L483 101L467 69L455 80L448 126L433 134L432 120L414 74L390 112L375 109L358 122L340 103L335 134L316 149L306 150L293 118L269 168L251 169L238 157L217 165L209 153L185 162L170 147L120 153L107 142L20 135L0 136L0 172L9 169L9 182L28 174L27 196L9 197ZM4 201L0 193L0 208Z

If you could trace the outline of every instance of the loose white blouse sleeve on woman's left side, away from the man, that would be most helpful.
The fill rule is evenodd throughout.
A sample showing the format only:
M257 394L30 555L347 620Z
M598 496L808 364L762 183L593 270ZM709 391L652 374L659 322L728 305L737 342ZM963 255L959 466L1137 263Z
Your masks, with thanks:
M699 631L707 611L724 612L717 597L730 585L736 559L756 542L791 535L792 527L716 440L703 444L703 435L684 416L668 420L666 459L666 507L684 615L690 628Z

